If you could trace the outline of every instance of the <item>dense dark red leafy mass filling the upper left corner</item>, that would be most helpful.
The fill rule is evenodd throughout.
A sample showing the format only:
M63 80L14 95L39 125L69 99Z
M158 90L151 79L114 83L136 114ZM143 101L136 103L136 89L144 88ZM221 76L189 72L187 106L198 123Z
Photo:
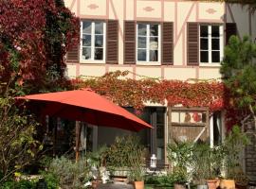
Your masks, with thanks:
M64 79L64 55L79 39L79 19L63 0L0 1L0 79L28 92Z

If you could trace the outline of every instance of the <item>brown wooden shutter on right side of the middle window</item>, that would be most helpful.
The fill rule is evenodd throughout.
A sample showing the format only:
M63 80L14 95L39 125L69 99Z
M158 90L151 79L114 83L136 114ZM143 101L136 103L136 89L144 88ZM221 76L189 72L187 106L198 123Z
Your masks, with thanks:
M162 24L162 64L174 65L174 25Z

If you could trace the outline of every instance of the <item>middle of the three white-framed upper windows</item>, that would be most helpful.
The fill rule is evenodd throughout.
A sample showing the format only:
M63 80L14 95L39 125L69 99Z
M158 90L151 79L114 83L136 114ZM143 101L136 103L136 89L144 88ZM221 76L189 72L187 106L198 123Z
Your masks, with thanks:
M160 26L137 24L137 61L159 62Z

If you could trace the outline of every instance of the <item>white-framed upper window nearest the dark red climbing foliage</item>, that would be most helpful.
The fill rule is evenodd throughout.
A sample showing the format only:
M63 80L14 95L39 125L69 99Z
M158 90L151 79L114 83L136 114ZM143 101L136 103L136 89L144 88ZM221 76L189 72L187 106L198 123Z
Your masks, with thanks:
M82 21L82 60L105 60L105 23Z

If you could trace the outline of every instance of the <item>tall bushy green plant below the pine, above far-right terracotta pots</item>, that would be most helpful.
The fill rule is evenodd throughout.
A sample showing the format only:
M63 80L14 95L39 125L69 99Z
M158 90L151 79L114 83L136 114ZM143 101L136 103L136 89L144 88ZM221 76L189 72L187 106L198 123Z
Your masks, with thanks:
M237 171L241 166L240 154L243 148L249 143L247 134L242 132L238 126L234 126L224 142L225 164L228 168L227 177L235 179Z

